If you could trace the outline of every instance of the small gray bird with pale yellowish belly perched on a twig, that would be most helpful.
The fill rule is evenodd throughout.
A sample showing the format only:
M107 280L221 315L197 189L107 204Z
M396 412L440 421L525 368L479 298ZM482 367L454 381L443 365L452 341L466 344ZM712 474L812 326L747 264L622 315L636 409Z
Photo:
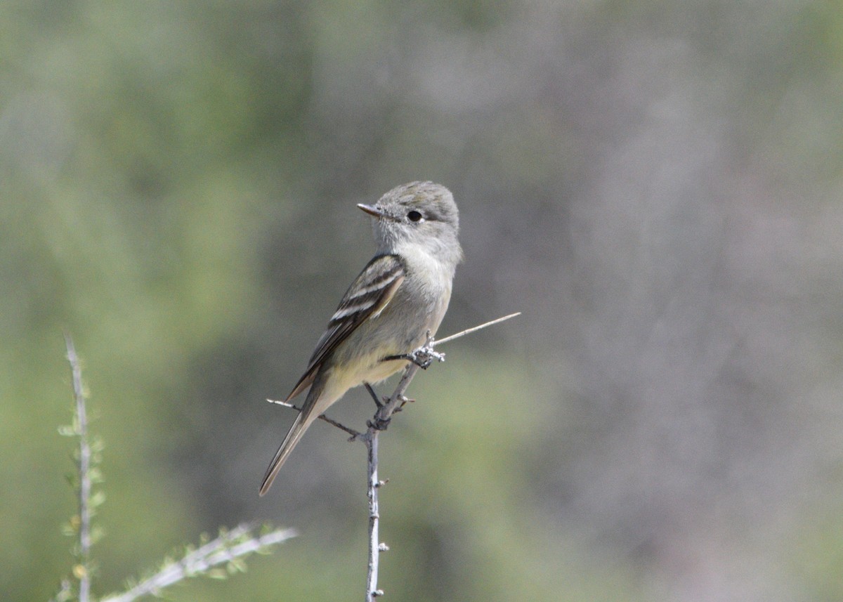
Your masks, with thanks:
M378 383L407 364L402 356L434 334L448 309L454 270L462 261L454 196L433 182L411 182L357 205L373 216L378 244L316 343L287 401L310 387L302 411L266 470L260 495L304 431L346 391Z

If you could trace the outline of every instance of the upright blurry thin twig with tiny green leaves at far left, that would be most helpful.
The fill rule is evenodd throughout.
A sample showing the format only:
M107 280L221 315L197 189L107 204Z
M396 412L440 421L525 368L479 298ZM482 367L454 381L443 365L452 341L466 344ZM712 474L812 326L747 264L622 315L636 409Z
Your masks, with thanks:
M76 347L69 334L64 335L65 347L67 347L67 361L70 363L70 370L73 380L73 397L76 400L76 424L74 425L76 435L79 438L79 455L77 468L79 474L79 550L78 563L73 567L73 576L79 580L79 602L89 602L91 590L90 577L90 550L91 550L91 448L88 441L88 417L85 412L85 394L82 384L82 368L79 366L79 358L76 355ZM75 522L75 521L74 521Z

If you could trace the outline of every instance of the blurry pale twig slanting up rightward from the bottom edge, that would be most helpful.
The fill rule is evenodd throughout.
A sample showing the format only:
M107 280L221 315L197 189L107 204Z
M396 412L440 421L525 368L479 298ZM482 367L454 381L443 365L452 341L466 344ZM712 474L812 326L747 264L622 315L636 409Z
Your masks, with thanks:
M223 532L217 539L186 554L179 562L164 565L152 577L144 579L122 594L110 595L102 602L132 602L145 595L159 595L161 590L182 579L207 574L213 567L234 562L253 552L266 551L269 546L280 544L296 535L293 529L275 529L266 535L253 537L252 529L248 524L241 524L235 529Z

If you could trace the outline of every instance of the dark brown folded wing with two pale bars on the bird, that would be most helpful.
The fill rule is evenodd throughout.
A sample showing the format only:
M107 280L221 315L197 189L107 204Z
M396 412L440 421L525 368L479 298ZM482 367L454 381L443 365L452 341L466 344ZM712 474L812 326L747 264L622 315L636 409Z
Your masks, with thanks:
M316 349L310 357L307 369L293 387L287 401L307 389L316 376L319 366L342 341L345 341L357 326L377 317L384 310L405 278L404 264L398 255L376 255L369 261L360 275L343 295L339 307L328 323Z

